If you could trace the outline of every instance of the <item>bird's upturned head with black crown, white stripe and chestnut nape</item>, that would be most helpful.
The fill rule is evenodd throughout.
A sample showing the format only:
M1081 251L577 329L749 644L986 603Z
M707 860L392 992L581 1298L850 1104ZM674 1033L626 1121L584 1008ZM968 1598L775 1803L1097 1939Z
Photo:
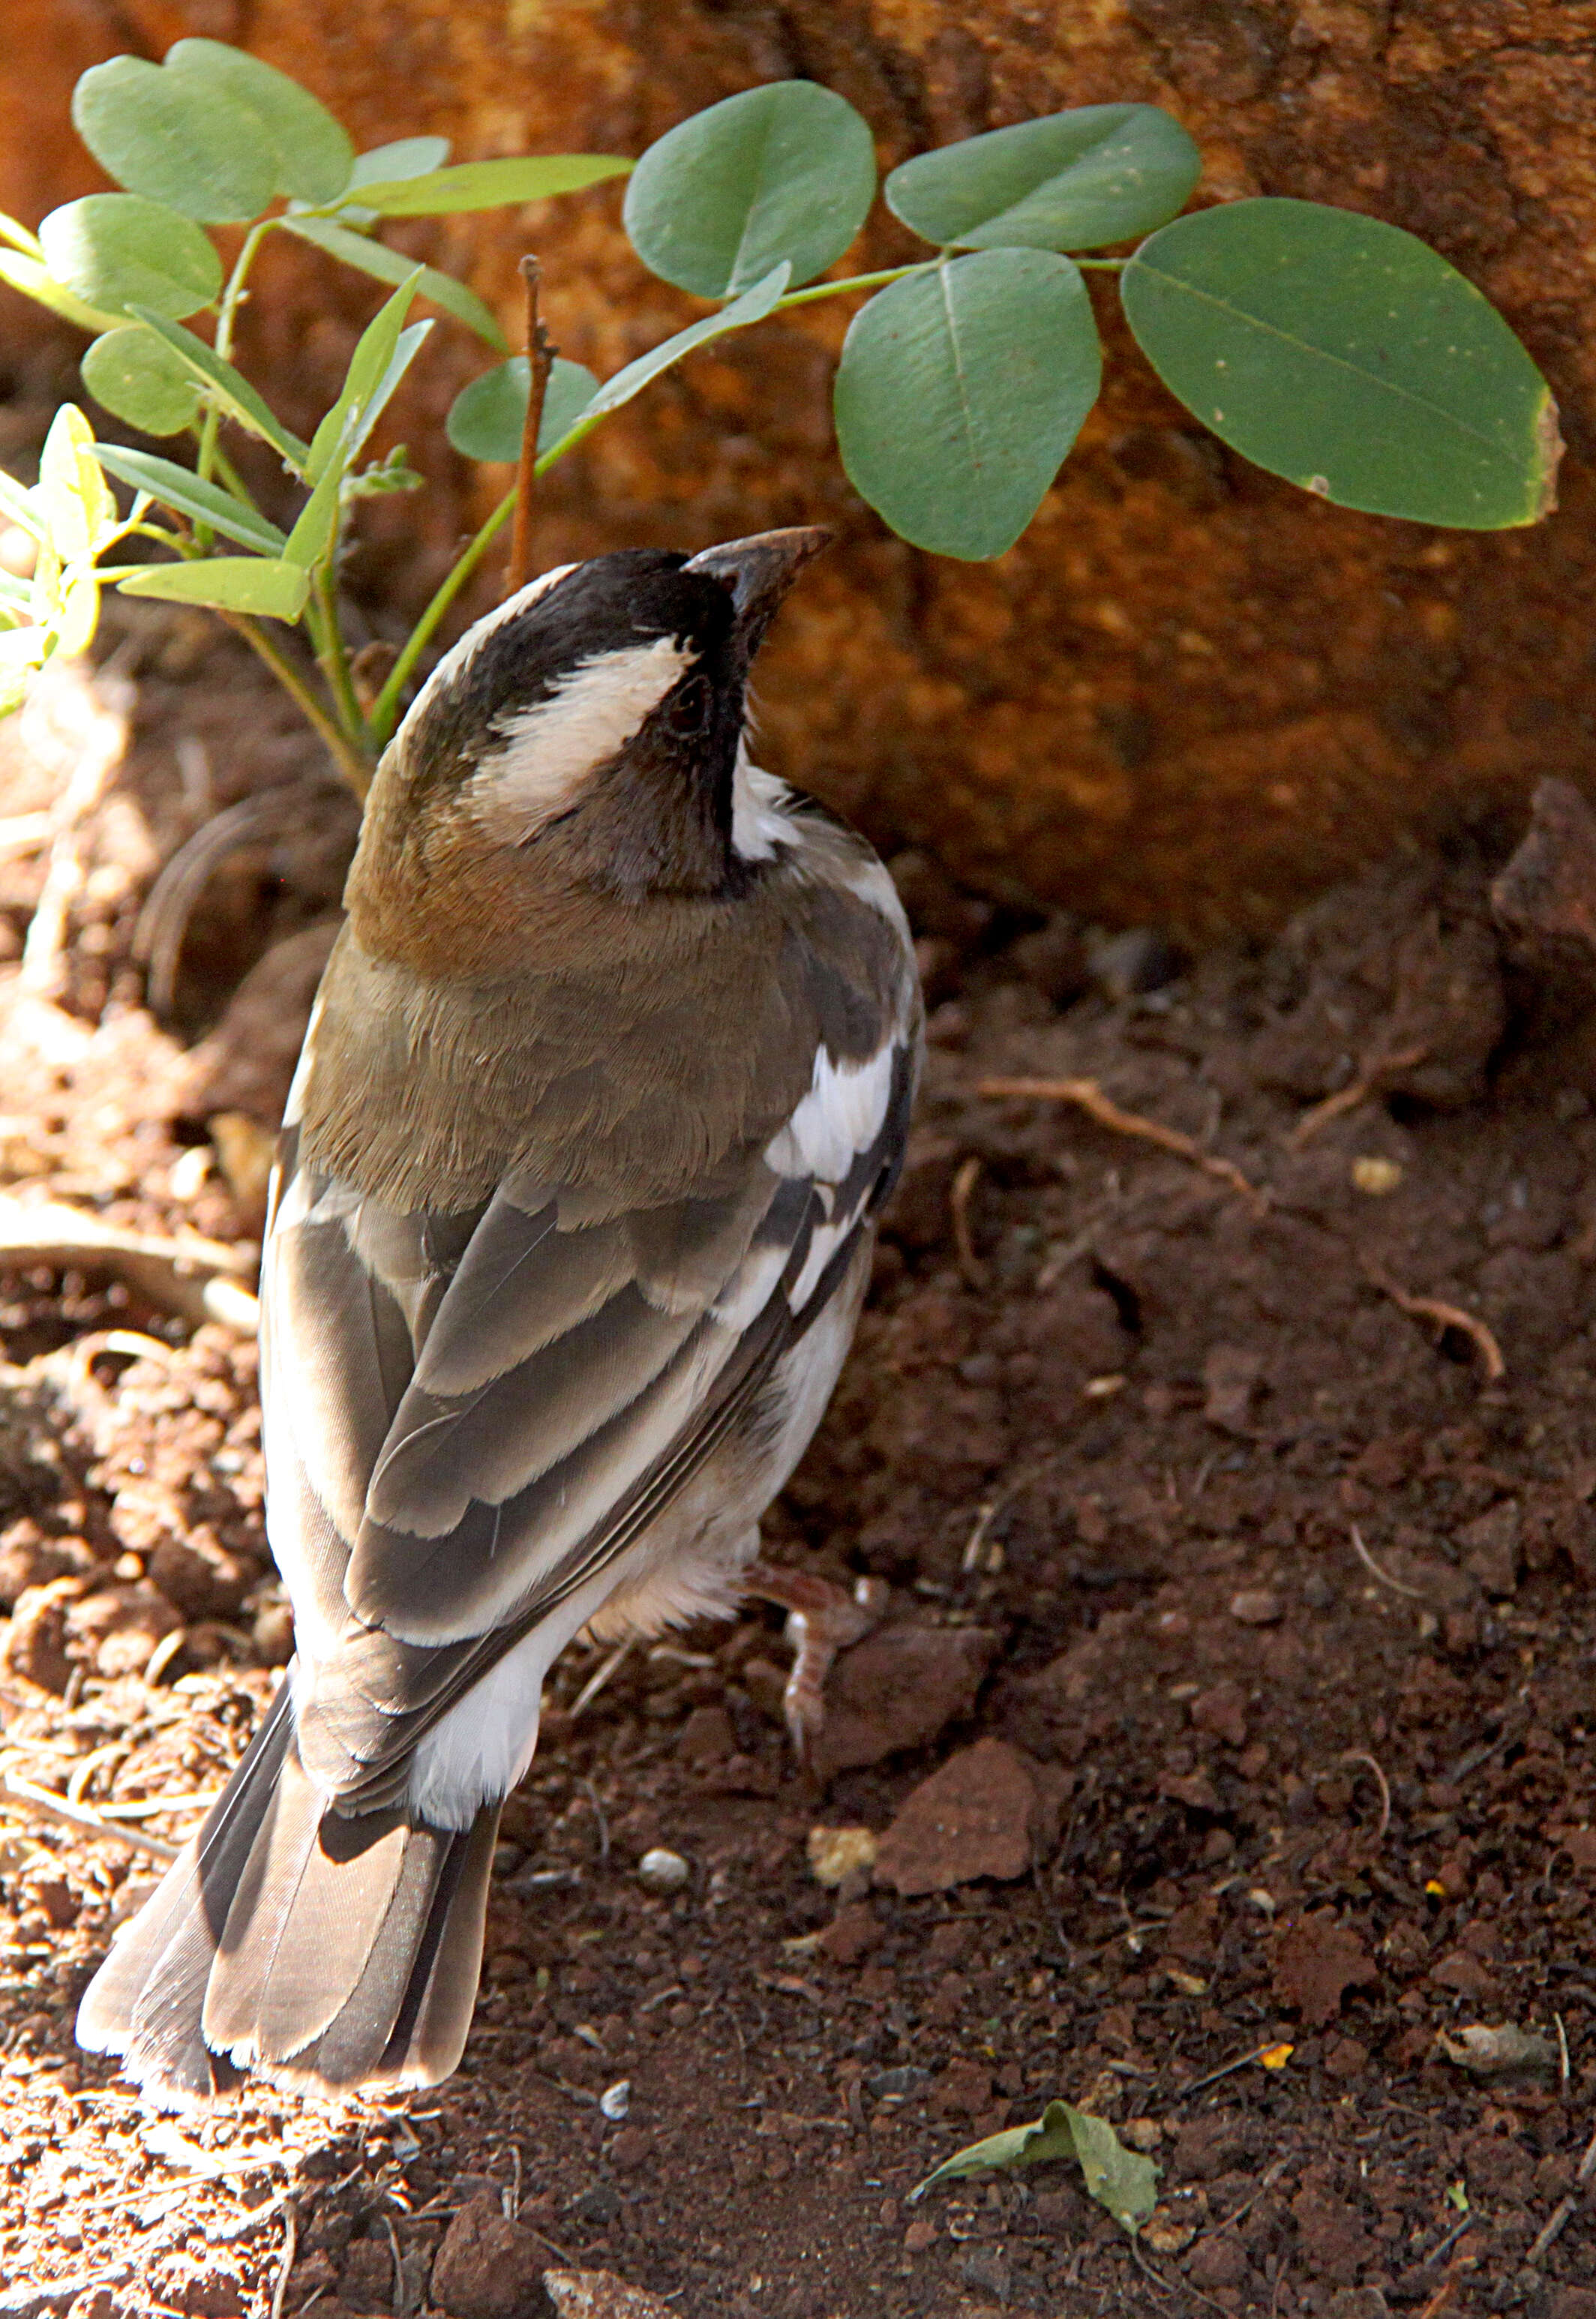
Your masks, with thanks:
M464 965L485 914L728 893L749 666L826 540L791 529L698 557L594 557L469 628L371 784L348 888L362 942L387 955L443 942Z

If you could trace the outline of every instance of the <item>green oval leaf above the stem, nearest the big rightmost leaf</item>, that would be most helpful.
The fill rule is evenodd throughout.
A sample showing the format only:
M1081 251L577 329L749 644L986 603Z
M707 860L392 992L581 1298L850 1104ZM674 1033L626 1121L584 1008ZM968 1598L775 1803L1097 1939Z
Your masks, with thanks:
M926 241L1095 250L1185 204L1202 153L1158 104L1081 104L905 160L886 206Z

